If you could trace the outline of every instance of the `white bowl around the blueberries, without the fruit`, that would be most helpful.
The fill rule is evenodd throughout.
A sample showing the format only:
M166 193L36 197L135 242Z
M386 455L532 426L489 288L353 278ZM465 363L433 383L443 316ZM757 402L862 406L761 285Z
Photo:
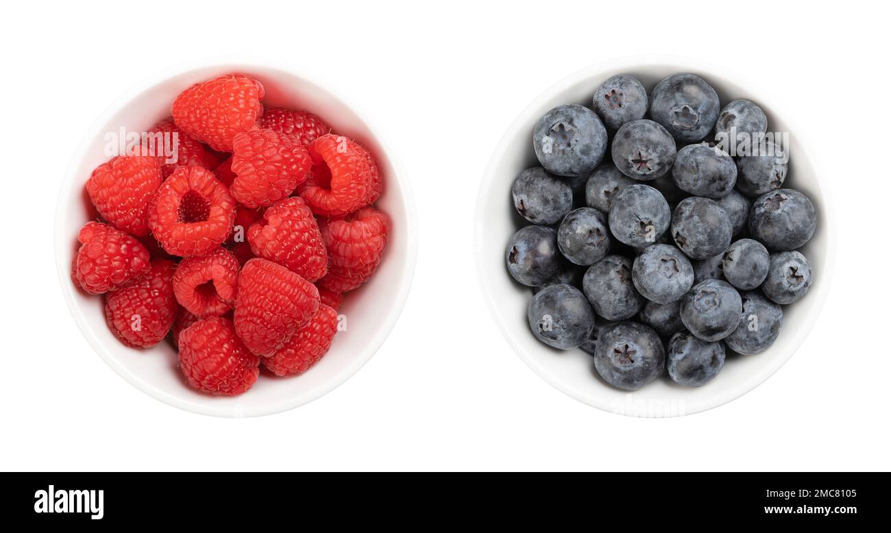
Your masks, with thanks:
M591 107L593 92L605 79L630 74L648 92L676 72L692 72L715 87L722 106L736 98L758 103L768 118L768 130L790 132L789 176L784 186L805 193L816 207L819 221L813 239L802 250L813 266L813 284L805 299L783 308L780 337L756 356L728 357L721 373L699 388L676 385L665 376L634 392L609 386L593 370L592 357L581 349L560 351L535 340L529 332L526 309L532 293L515 283L504 265L508 239L528 224L511 201L511 183L524 168L538 166L532 150L535 122L553 107L579 103ZM572 398L618 414L676 416L720 406L738 398L776 372L805 339L820 312L830 283L834 257L833 219L815 166L808 158L800 130L778 114L781 107L762 89L728 74L714 65L666 56L629 57L581 70L561 80L520 113L495 148L480 186L476 211L476 247L479 283L489 310L503 337L535 373Z

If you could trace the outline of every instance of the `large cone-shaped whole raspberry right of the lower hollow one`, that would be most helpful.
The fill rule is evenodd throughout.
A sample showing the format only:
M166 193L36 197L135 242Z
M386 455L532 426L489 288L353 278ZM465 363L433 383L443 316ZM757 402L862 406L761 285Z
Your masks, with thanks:
M235 331L250 351L271 356L319 307L319 291L284 266L250 259L238 278Z

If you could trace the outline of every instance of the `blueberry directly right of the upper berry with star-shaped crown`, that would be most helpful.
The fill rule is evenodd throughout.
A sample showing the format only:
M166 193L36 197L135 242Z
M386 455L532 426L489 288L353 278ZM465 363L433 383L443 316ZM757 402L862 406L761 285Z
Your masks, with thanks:
M688 144L677 151L672 176L687 193L723 198L736 184L736 164L713 143Z

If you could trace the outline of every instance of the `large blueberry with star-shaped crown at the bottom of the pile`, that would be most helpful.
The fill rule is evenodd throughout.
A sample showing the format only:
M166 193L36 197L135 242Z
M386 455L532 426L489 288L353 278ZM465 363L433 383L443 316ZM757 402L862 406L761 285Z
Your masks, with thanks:
M637 390L665 369L659 336L636 322L616 324L603 333L594 351L594 369L613 387Z

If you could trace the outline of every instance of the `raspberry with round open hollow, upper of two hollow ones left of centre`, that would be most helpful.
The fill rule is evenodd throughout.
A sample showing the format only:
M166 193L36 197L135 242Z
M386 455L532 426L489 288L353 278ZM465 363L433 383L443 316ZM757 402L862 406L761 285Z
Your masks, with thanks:
M149 226L164 250L200 256L232 230L235 203L206 168L180 167L161 184L149 209Z

